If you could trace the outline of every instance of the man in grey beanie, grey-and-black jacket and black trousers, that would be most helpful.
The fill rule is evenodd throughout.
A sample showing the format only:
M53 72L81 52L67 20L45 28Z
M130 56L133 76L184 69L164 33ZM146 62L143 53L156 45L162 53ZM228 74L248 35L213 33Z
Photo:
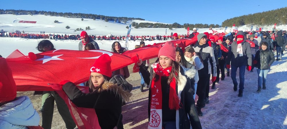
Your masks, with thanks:
M214 50L207 43L207 36L205 34L197 35L198 42L193 46L196 54L201 56L203 59L203 68L198 71L199 81L197 83L197 91L198 95L197 100L197 113L202 116L201 108L205 106L205 98L209 98L209 79L210 73L212 73L212 82L216 80L216 60L214 56ZM208 92L207 89L208 88Z

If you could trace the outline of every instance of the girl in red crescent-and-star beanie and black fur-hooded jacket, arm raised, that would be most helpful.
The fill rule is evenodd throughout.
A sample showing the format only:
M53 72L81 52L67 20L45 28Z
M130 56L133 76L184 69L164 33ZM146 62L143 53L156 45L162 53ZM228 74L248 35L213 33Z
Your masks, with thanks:
M92 93L83 93L70 81L61 81L63 90L78 107L94 108L102 129L123 129L121 107L129 100L131 93L113 83L108 54L100 56L90 69L89 87ZM115 76L114 76L115 77ZM124 78L123 76L121 76Z

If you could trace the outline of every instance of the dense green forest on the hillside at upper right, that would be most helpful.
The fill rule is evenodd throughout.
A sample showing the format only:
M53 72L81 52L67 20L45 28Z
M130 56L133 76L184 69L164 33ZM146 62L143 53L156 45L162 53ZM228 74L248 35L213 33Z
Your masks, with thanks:
M277 25L287 24L287 7L266 11L262 13L254 13L234 17L222 22L222 26L231 27L233 24L236 26L243 25Z

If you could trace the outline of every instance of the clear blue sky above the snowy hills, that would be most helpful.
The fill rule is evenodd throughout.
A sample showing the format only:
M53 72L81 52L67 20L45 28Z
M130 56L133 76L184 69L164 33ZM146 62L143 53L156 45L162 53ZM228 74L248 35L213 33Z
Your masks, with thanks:
M260 6L258 6L260 5ZM286 7L285 0L107 0L107 1L1 1L0 9L23 9L139 17L149 21L179 24L219 24L226 19Z

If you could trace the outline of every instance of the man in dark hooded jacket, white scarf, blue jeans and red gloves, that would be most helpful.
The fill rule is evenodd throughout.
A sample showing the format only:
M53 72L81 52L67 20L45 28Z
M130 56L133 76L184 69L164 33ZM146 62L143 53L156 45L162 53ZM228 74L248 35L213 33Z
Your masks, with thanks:
M251 70L252 65L252 55L251 55L251 48L250 44L245 41L245 36L243 31L238 31L235 42L232 42L231 46L229 47L227 61L226 61L226 67L227 69L230 68L230 62L231 62L231 79L233 81L233 90L237 91L237 80L236 80L236 71L239 67L239 94L238 97L243 96L243 89L244 89L244 74L245 74L245 68L247 66L247 70Z

